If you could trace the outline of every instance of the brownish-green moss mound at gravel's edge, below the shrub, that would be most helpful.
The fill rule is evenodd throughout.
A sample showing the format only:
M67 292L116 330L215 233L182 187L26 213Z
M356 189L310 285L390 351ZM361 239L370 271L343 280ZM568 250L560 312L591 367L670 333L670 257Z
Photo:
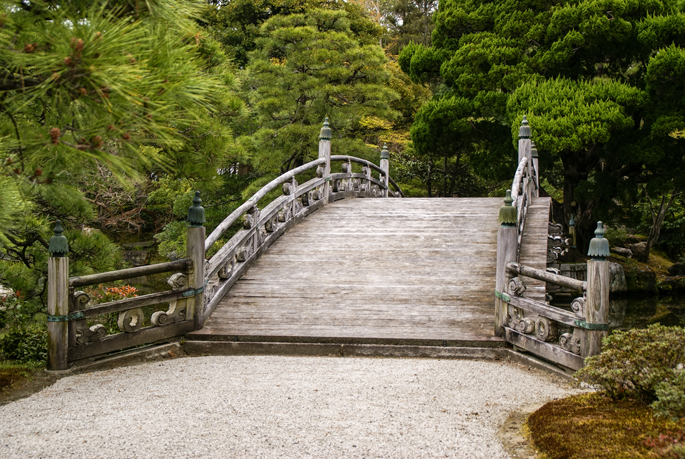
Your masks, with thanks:
M677 457L685 420L655 418L644 403L592 393L544 405L530 415L528 428L549 459Z

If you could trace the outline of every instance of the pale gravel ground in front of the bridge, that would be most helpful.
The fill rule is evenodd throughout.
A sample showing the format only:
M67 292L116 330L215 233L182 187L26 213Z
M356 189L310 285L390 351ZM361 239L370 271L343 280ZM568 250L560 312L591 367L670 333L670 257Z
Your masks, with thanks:
M0 407L0 457L504 458L512 410L576 392L498 362L182 358Z

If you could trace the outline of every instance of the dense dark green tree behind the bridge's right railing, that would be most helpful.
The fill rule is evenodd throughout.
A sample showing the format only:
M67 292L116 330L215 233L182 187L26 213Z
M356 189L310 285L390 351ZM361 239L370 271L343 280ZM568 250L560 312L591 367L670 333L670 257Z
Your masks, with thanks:
M414 81L442 85L433 104L445 108L417 115L417 151L440 156L436 145L458 138L471 151L501 145L500 161L509 159L504 145L527 114L546 175L560 162L550 184L563 190L581 246L593 221L620 221L640 199L656 208L653 243L685 182L685 143L671 136L685 124L682 11L679 0L440 2L432 46L407 46L399 58ZM423 134L454 106L450 129ZM510 132L486 128L502 125Z

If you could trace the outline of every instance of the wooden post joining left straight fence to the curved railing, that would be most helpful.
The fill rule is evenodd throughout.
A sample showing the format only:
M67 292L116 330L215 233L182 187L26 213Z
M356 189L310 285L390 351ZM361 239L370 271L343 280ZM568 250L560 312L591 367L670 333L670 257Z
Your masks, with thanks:
M188 317L193 317L195 329L204 325L205 289L205 209L202 207L200 192L195 192L193 205L188 209L187 257L193 262L192 272L188 275L188 288L195 289L195 301L188 303Z

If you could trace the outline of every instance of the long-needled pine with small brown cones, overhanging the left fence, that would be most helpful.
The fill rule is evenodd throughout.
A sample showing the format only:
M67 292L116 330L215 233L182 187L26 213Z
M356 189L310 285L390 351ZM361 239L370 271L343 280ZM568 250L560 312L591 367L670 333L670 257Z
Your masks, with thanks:
M87 198L101 168L122 190L168 175L214 180L235 101L197 25L204 7L0 1L0 282L24 299L43 299L56 218L73 241L72 274L121 262L104 234L80 231L96 218Z

